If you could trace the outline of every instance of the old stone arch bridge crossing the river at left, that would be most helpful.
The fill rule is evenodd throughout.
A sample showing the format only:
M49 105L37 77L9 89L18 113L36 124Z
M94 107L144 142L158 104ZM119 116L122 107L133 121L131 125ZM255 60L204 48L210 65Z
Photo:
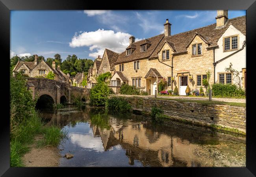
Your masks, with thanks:
M54 104L61 103L61 99L67 103L73 103L74 98L88 98L89 90L81 87L74 87L68 83L58 82L52 79L26 77L27 86L32 90L33 99L47 95L52 98Z

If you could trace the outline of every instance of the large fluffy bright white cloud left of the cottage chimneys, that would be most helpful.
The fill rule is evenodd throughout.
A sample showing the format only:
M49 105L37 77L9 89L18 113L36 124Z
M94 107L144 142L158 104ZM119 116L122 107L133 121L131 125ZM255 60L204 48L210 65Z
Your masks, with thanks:
M79 35L74 35L69 46L74 47L89 47L91 53L90 57L97 57L103 55L105 48L114 52L124 52L129 45L129 33L116 32L113 30L98 29L97 31L83 32ZM138 41L141 39L136 39Z

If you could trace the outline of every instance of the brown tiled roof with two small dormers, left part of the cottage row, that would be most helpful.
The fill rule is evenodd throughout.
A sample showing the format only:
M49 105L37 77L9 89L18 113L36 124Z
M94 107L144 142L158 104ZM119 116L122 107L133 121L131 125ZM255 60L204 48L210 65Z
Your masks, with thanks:
M151 45L145 52L140 51L140 45L145 44L146 42L145 39L132 43L136 46L134 52L132 52L131 55L126 55L126 51L120 53L115 64L149 57L163 37L164 37L164 34L160 34L160 35L148 38L147 41L150 41Z

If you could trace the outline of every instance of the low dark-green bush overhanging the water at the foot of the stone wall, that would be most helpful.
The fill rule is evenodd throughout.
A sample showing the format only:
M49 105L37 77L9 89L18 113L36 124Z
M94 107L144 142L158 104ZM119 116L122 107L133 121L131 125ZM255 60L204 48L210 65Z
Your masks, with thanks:
M128 101L122 97L111 97L106 100L106 109L114 109L119 112L127 112L132 109L132 106Z

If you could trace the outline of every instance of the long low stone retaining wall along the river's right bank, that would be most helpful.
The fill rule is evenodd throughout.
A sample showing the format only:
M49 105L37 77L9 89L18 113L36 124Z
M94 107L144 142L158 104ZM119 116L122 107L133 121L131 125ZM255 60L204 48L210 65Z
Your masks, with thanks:
M152 98L129 98L126 100L134 109L142 109L150 114L153 106L173 119L188 120L200 125L220 125L246 132L246 108L229 105L203 105L201 103L179 103L174 100L154 100Z

